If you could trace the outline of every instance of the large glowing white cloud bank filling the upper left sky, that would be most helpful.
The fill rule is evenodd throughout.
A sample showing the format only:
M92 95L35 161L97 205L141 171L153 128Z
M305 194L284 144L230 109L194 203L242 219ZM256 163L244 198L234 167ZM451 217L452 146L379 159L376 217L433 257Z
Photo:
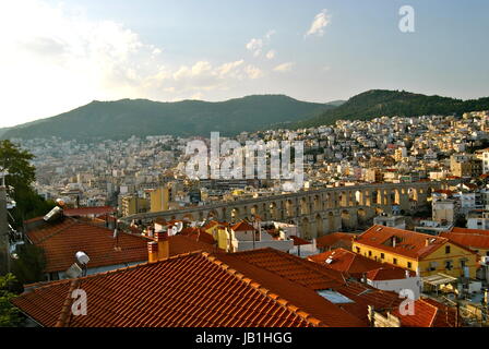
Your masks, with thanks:
M171 64L163 47L144 41L124 24L88 20L65 4L43 0L0 2L0 95L10 120L2 120L4 125L93 99L199 97L263 76L242 59ZM260 49L264 39L251 45Z

